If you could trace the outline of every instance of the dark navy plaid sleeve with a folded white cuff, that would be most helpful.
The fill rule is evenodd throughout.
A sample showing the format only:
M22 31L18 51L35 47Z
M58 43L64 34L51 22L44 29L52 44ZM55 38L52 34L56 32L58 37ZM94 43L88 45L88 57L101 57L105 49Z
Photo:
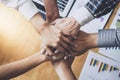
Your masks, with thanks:
M120 0L89 0L84 7L76 10L72 16L83 26L94 18L109 13Z

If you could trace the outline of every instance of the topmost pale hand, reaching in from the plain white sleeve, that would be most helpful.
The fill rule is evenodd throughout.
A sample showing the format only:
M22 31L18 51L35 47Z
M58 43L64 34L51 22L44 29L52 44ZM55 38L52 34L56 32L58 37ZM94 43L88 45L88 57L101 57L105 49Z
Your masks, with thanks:
M74 45L70 39L62 34L58 27L46 23L41 28L42 46L53 47L61 53L68 53L70 51L69 46Z

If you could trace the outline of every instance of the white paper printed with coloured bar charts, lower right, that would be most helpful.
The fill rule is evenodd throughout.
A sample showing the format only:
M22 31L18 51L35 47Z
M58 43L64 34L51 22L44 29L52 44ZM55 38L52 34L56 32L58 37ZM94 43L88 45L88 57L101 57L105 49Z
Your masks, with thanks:
M90 51L78 80L120 80L120 63Z

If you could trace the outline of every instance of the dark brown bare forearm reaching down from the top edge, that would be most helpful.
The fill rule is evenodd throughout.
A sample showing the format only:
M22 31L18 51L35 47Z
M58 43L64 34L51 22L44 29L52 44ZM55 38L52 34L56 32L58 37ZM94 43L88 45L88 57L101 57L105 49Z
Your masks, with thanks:
M52 22L60 16L57 0L44 0L44 4L46 10L46 19L48 22Z

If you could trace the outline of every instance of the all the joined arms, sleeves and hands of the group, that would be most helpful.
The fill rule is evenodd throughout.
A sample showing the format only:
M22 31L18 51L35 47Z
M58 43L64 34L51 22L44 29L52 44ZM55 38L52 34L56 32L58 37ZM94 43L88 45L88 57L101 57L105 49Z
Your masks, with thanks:
M61 80L77 80L71 70L75 56L80 56L91 48L120 47L120 29L99 30L98 33L92 34L80 30L80 27L94 18L109 13L120 0L89 0L67 18L59 18L56 0L44 0L46 20L42 18L32 0L0 0L0 2L15 8L31 21L42 41L38 53L1 65L0 80L16 77L46 61L52 62Z

